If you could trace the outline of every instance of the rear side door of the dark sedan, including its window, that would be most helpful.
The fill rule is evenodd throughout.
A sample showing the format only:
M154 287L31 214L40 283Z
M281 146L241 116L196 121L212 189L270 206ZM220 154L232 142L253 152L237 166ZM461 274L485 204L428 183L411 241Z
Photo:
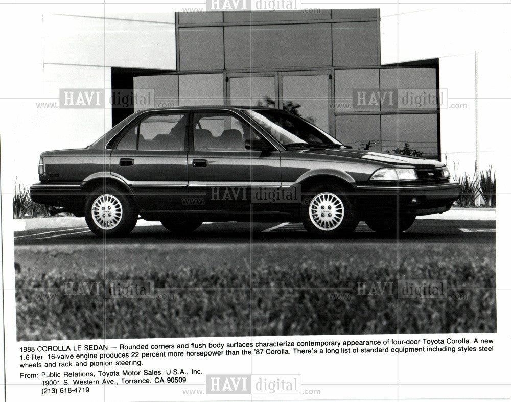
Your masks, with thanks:
M184 210L188 111L144 113L113 146L110 171L130 184L141 211Z

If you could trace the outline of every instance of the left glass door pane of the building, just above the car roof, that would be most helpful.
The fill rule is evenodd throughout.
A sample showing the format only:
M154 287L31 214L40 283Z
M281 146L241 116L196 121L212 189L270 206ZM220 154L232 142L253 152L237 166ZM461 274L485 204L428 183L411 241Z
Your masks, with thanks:
M275 77L231 77L230 104L275 107Z

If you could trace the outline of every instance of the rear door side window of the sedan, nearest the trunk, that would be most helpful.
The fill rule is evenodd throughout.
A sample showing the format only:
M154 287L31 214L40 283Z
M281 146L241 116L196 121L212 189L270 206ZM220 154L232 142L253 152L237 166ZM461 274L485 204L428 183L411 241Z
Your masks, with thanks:
M117 149L183 151L187 116L186 113L151 114L121 138Z

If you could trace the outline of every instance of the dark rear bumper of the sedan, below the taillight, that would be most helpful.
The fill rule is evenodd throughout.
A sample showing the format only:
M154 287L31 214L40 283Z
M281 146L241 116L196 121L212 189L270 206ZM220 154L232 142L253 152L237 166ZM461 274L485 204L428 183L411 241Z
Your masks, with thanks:
M83 206L81 190L80 184L36 183L30 187L30 198L43 205L81 208Z

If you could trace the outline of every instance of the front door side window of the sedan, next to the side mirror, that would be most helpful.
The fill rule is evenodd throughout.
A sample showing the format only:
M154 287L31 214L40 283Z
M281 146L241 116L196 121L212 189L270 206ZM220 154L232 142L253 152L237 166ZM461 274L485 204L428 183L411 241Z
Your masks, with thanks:
M196 151L245 151L245 140L259 136L238 117L224 112L194 113Z

